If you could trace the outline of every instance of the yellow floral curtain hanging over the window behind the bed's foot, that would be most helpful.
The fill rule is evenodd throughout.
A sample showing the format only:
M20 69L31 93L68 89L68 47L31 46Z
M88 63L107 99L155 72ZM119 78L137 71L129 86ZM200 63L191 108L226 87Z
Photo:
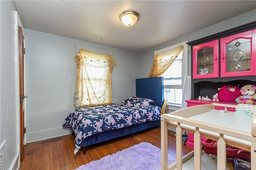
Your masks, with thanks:
M116 62L111 55L80 49L75 56L77 76L74 107L93 107L112 103L112 69Z

